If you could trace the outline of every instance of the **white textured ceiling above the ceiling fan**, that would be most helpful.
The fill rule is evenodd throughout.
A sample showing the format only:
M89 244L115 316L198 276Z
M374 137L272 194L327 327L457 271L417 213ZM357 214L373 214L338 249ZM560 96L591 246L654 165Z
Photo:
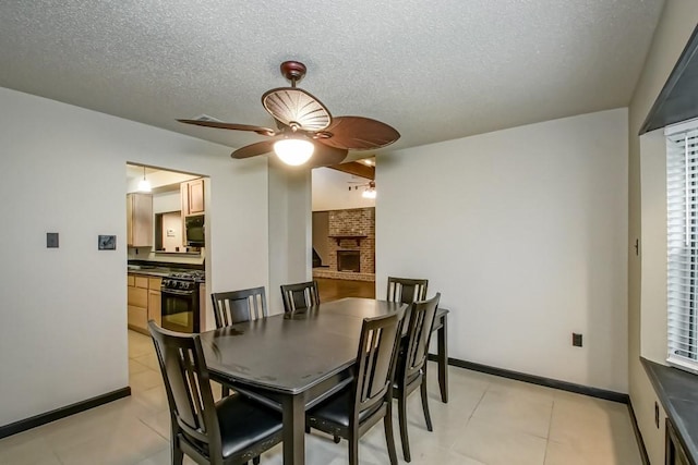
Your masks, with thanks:
M627 106L663 0L0 2L0 86L231 147L284 60L404 148Z

